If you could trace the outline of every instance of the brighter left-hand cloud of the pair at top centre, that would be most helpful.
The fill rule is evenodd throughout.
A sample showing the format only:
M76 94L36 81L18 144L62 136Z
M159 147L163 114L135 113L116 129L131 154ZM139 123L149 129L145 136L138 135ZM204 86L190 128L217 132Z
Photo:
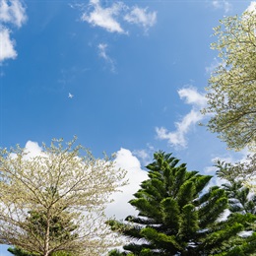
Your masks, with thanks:
M94 10L90 14L84 13L82 21L101 27L108 32L124 32L116 21L116 17L123 8L121 3L114 3L111 7L105 9L99 5L98 0L91 0L90 3Z

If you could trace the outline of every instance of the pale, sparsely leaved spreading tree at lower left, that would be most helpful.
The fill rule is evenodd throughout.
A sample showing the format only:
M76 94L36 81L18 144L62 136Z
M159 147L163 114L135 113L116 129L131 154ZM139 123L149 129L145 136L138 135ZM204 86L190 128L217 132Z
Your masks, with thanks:
M104 208L125 173L75 141L43 144L36 157L20 146L0 151L1 243L38 256L93 256L118 244Z

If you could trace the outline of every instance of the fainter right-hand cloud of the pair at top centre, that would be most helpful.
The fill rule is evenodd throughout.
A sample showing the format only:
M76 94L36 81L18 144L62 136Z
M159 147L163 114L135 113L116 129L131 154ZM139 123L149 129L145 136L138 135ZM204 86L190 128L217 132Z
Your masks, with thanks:
M135 6L132 11L124 16L124 20L131 24L143 26L146 30L153 27L157 22L157 12L149 13L148 8Z

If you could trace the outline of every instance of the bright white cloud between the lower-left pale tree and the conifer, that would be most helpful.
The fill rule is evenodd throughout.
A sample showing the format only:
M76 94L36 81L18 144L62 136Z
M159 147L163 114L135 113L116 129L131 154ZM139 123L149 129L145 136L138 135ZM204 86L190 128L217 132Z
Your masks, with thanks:
M121 192L115 193L114 202L106 208L108 217L115 216L117 220L123 220L128 215L136 214L136 210L128 202L133 199L133 194L138 191L143 180L148 179L148 172L141 168L140 161L126 149L120 149L116 154L116 167L127 170L126 178L129 184L121 188Z

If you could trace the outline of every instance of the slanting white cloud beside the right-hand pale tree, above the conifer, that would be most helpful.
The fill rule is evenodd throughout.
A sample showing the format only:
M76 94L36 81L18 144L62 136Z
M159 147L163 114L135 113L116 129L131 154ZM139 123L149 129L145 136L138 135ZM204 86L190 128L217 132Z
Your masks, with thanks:
M167 140L169 145L176 148L185 148L187 146L186 134L204 118L200 109L206 105L207 99L205 95L198 93L197 89L193 87L179 90L178 95L180 98L184 98L187 104L192 104L192 109L179 122L175 122L175 131L170 132L164 127L157 127L156 132L158 139Z

